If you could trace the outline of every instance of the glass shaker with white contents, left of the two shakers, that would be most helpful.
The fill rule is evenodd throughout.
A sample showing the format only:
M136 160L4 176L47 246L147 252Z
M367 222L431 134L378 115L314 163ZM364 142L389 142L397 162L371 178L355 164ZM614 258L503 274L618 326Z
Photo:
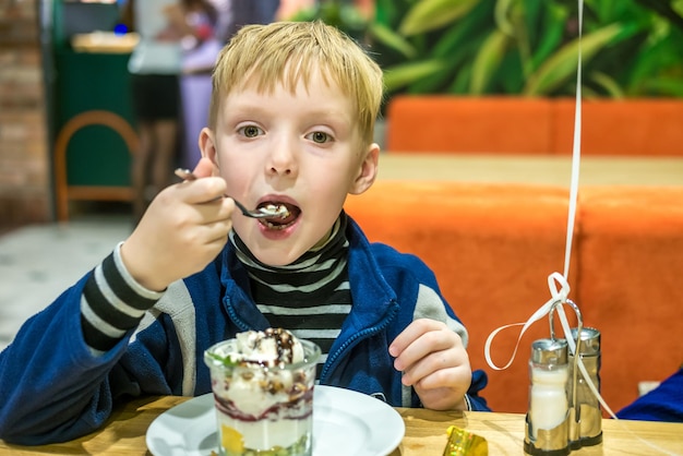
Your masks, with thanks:
M524 451L530 455L568 455L570 367L566 340L535 340L531 344L529 377Z

